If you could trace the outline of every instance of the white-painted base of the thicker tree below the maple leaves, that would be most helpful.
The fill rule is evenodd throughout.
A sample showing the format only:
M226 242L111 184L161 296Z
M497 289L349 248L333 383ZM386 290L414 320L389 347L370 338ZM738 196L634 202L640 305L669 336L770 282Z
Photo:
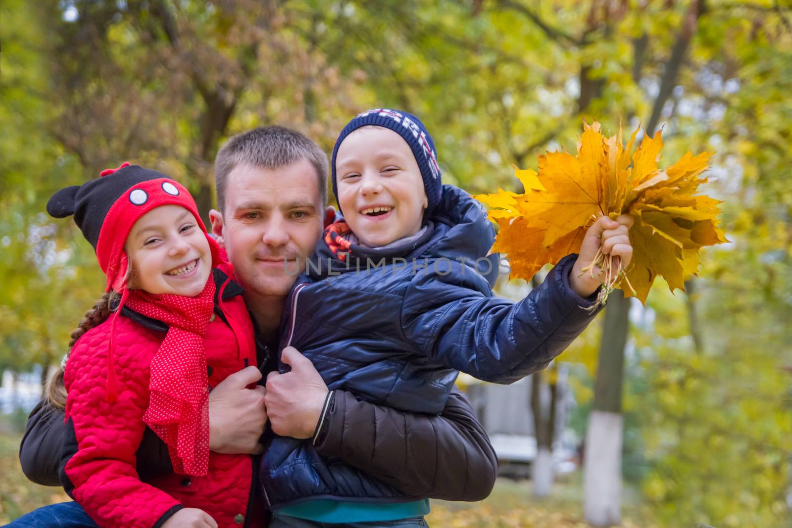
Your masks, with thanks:
M592 411L584 450L584 513L592 526L621 522L622 415Z

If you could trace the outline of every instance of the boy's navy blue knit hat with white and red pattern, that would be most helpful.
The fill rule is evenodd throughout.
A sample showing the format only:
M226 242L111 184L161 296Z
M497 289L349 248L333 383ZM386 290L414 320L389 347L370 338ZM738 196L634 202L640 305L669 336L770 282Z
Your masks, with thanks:
M429 135L424 123L421 123L416 116L408 114L407 112L399 112L398 110L389 110L388 108L373 108L363 112L352 121L347 123L341 134L336 139L336 144L333 146L333 159L330 162L333 177L333 194L338 199L338 187L336 184L336 154L338 154L338 147L341 142L360 127L367 125L374 125L375 127L390 128L390 130L401 135L407 142L409 148L413 150L415 161L418 162L418 168L421 169L421 177L424 179L424 189L426 191L427 206L426 212L440 203L440 192L442 192L443 185L440 183L440 165L437 165L437 154L435 150L435 142L432 141L432 136ZM339 206L341 209L341 206ZM344 211L341 211L343 213Z

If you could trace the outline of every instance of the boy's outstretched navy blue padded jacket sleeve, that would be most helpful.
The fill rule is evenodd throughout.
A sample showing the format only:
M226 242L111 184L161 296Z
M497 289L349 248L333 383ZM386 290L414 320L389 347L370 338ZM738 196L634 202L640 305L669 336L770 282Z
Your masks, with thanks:
M516 303L491 296L486 280L462 262L430 265L407 287L406 340L436 362L487 382L512 383L542 370L600 310L589 312L596 297L582 298L569 285L576 260L565 256Z

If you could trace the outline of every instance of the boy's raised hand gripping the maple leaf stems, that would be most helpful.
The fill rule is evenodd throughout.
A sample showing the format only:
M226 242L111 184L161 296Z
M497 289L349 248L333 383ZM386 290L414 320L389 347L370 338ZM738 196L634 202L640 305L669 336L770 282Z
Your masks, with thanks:
M600 267L595 266L591 272L584 272L584 268L596 258L596 254L602 249L605 255L618 255L622 260L622 268L626 268L633 258L633 246L630 245L628 231L633 226L634 218L630 215L621 215L615 220L607 216L600 216L596 222L586 231L583 242L581 243L581 253L577 256L577 262L569 275L569 285L581 297L588 297L593 294L604 277L600 275Z

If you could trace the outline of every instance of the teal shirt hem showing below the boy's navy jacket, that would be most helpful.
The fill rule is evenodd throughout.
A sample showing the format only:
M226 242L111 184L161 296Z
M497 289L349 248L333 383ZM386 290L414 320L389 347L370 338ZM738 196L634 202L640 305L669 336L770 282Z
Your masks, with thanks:
M340 500L308 500L278 508L275 515L287 515L316 522L396 521L423 517L429 513L429 500L412 503L352 503Z

